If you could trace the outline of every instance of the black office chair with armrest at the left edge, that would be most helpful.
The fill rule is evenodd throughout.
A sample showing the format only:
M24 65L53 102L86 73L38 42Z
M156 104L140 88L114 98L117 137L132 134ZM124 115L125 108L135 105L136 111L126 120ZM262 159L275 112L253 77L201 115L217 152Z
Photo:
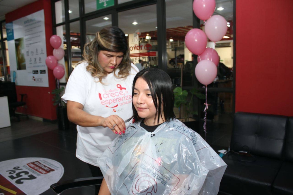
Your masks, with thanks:
M20 95L21 95L21 101L18 102L15 83L0 82L0 96L7 96L9 115L10 117L17 117L18 121L20 121L20 116L26 116L28 118L27 115L15 113L17 107L26 105L26 103L23 101L23 97L26 94L20 94Z

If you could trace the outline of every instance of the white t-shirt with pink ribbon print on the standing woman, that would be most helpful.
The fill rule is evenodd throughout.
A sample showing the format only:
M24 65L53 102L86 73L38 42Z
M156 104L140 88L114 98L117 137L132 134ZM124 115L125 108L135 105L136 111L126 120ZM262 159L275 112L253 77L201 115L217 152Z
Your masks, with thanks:
M116 114L123 120L130 118L132 112L132 81L138 69L131 64L130 75L117 79L114 73L96 82L98 78L86 71L87 63L81 63L72 71L62 96L64 102L79 102L84 111L95 116L108 117ZM116 70L116 75L119 70ZM108 145L117 136L108 127L82 127L77 125L76 157L94 166Z

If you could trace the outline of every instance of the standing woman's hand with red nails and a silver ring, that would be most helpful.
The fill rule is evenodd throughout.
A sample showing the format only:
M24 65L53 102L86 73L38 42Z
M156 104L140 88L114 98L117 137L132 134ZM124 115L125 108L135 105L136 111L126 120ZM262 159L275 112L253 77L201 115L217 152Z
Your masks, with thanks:
M100 121L101 126L108 127L115 134L124 134L125 133L125 123L122 118L118 117L117 115L110 115L109 117L103 118ZM113 129L114 127L114 129Z

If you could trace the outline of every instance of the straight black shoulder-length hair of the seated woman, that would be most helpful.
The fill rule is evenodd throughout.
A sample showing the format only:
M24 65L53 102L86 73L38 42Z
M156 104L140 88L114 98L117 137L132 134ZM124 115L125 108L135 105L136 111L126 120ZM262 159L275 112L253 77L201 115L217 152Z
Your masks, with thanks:
M174 114L174 94L173 87L170 76L160 69L147 68L139 71L137 75L134 77L132 84L132 97L134 95L134 85L138 78L144 79L147 82L149 89L151 91L151 96L156 108L155 118L158 116L158 124L160 117L162 117L162 113L166 121L170 121L170 119L175 118ZM163 110L162 108L163 104ZM138 121L140 117L138 116L137 111L132 103L132 110L134 113L135 121Z

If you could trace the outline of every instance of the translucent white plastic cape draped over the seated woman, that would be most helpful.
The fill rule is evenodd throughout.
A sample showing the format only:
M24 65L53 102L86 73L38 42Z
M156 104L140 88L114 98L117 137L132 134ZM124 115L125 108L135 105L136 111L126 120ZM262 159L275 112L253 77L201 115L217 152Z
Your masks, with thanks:
M174 119L153 133L130 124L98 158L111 194L217 194L227 165Z

